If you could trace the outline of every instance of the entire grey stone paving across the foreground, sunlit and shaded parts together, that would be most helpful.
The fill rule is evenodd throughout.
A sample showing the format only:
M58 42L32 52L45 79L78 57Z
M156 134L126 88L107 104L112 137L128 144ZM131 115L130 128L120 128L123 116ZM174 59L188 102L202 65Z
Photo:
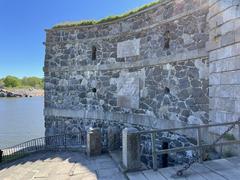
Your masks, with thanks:
M239 180L240 157L194 164L183 177L180 167L122 174L109 155L89 158L79 152L32 154L0 166L0 180Z

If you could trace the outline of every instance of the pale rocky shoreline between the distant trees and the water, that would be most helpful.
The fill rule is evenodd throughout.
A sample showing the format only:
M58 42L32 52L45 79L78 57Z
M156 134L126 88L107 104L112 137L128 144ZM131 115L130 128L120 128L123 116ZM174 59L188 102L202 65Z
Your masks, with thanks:
M44 96L43 89L35 88L16 88L16 89L0 89L0 98L3 97L35 97Z

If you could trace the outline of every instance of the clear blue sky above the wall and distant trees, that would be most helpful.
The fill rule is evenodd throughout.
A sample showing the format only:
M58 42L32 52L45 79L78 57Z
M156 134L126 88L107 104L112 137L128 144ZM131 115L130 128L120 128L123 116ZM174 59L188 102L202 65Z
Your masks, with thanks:
M44 29L101 19L154 0L0 0L0 78L43 77Z

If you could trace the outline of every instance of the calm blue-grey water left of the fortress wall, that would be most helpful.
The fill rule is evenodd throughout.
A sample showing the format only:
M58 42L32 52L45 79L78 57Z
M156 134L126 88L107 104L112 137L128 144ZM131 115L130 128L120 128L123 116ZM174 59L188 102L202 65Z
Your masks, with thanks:
M43 97L0 98L0 149L42 136Z

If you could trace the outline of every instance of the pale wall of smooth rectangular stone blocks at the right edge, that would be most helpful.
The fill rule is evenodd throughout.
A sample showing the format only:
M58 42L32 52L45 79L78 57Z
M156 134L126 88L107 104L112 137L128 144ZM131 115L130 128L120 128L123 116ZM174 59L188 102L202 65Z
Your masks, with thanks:
M240 115L240 0L211 0L208 21L209 120L236 121Z

